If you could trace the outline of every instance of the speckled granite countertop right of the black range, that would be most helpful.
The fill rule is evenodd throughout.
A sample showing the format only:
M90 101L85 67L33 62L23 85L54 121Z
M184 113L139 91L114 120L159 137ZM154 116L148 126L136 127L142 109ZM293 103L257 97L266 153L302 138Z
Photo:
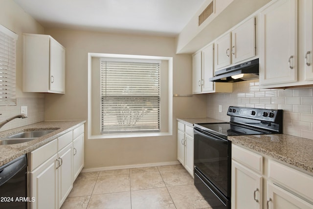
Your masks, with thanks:
M313 175L313 140L287 134L228 137L234 144L289 163Z

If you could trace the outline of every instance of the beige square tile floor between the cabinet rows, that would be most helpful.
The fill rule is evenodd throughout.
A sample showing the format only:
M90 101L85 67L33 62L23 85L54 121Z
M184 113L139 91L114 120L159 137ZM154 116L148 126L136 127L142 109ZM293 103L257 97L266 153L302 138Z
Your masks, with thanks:
M210 209L182 165L81 173L61 209Z

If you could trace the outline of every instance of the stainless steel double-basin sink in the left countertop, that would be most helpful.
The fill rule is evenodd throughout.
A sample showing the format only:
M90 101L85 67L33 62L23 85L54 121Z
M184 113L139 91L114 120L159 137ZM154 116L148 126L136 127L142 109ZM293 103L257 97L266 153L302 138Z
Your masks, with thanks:
M45 136L46 134L49 134L49 133L51 133L57 129L23 131L23 132L20 132L17 134L13 134L13 135L1 138L0 139L0 145L18 144L18 143L31 141L31 140L37 139L39 137Z

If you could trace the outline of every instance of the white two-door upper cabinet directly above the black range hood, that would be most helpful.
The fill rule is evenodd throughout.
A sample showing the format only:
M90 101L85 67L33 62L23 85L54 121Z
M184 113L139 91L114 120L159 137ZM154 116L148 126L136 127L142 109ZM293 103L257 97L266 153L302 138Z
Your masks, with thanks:
M215 71L255 56L255 18L215 41Z

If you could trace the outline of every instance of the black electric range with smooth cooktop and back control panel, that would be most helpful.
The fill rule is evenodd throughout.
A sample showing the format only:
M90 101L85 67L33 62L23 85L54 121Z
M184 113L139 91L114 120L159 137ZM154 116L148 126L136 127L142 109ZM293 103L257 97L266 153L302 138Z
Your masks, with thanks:
M195 186L213 209L230 209L229 136L279 134L283 111L230 106L229 122L194 125Z

